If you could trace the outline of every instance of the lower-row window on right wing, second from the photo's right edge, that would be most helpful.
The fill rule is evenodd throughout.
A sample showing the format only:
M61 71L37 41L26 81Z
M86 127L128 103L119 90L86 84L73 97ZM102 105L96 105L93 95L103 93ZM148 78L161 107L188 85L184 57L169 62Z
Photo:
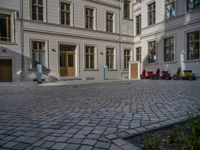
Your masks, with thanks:
M164 39L164 61L174 61L174 37Z

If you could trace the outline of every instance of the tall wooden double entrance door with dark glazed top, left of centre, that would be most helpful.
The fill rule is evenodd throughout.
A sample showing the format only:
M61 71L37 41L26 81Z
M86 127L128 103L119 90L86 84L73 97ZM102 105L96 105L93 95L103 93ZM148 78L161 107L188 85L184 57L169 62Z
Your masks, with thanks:
M75 76L75 48L72 45L60 45L60 76Z

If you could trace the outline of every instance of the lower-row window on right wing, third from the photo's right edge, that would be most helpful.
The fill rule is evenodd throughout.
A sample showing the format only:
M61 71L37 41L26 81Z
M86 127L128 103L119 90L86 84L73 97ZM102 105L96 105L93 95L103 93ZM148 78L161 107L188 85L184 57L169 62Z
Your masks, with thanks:
M148 43L148 63L156 62L156 42L152 41Z

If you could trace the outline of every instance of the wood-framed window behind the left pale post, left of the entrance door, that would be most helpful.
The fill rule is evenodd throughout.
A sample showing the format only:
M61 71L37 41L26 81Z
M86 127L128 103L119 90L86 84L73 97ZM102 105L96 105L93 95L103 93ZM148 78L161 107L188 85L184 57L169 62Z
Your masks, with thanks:
M32 41L32 67L36 68L37 64L41 64L44 67L45 57L45 42Z

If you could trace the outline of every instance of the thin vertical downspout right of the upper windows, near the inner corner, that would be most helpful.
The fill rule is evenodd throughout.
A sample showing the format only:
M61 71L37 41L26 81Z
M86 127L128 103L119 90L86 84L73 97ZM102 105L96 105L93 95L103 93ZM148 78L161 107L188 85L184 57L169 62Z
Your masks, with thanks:
M122 78L122 64L121 64L121 0L119 0L119 70Z

